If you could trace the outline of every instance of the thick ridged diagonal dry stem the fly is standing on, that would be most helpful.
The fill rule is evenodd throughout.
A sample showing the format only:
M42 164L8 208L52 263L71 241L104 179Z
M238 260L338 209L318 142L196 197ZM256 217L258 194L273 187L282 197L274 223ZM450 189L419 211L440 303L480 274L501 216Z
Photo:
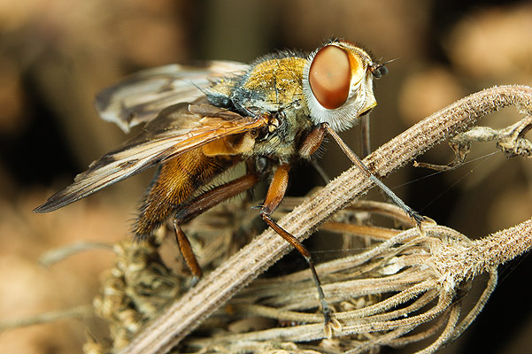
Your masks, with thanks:
M397 135L365 158L364 164L377 177L386 176L436 143L471 127L476 119L510 105L522 113L532 114L532 89L500 86L467 96ZM329 215L366 193L371 186L365 173L351 167L282 218L279 225L302 240ZM267 230L171 304L120 353L167 352L202 319L288 251L288 242ZM309 326L323 333L321 324Z

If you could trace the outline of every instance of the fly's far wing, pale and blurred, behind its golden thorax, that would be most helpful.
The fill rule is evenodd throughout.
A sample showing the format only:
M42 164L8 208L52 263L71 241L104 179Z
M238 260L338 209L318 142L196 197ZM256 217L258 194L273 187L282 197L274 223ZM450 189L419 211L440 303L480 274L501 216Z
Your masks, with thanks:
M127 133L129 128L155 119L170 105L204 96L204 89L213 81L248 68L232 61L212 61L203 67L175 64L143 70L98 94L96 110Z

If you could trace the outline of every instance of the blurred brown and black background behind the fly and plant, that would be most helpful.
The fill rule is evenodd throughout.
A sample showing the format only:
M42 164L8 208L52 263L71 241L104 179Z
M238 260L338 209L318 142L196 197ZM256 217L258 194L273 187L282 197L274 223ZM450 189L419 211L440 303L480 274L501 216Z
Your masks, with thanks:
M375 58L397 59L376 85L375 148L469 93L532 84L531 35L527 1L0 0L0 319L89 304L99 274L112 265L111 252L88 251L50 269L36 259L73 242L128 236L150 173L58 212L31 212L125 139L92 105L97 91L123 75L174 62L247 62L344 37ZM514 111L482 124L506 127L516 121ZM343 133L355 149L358 135L356 127ZM335 176L349 163L328 145L321 164ZM478 159L456 171L405 167L386 183L440 224L470 237L488 235L532 215L532 162L490 155L494 151L493 143L474 144L469 160ZM420 158L451 159L446 146ZM531 271L529 258L502 267L487 309L445 352L529 353ZM87 328L95 326L71 319L8 331L0 334L0 352L79 352Z

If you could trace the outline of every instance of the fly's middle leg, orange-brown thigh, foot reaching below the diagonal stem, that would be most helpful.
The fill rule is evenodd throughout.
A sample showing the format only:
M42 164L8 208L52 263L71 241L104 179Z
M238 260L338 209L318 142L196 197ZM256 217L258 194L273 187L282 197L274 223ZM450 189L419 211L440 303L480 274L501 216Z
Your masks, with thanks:
M266 194L266 200L262 205L260 216L266 221L266 224L268 224L269 227L272 227L277 234L281 235L283 239L288 241L296 250L299 251L299 253L301 253L301 255L305 258L306 263L311 268L312 278L316 284L316 288L318 289L318 296L320 296L321 309L325 319L326 334L328 337L330 337L332 335L331 327L339 327L339 323L331 317L331 310L327 301L325 300L325 295L323 293L323 289L321 288L320 278L318 277L318 273L316 272L314 263L312 262L311 253L305 248L303 243L299 242L299 240L294 237L294 235L291 235L284 228L280 227L270 217L272 212L274 212L277 206L281 203L281 200L286 192L289 181L289 168L290 167L288 164L281 164L279 167L277 167L277 170L274 173L274 178Z

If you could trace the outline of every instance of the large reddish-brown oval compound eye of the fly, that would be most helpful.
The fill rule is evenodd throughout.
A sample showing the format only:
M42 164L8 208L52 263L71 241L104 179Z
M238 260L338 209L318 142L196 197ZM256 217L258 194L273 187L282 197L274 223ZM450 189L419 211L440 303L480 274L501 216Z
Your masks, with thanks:
M312 93L329 110L347 101L351 85L351 66L347 52L334 45L321 48L312 60L309 72Z

